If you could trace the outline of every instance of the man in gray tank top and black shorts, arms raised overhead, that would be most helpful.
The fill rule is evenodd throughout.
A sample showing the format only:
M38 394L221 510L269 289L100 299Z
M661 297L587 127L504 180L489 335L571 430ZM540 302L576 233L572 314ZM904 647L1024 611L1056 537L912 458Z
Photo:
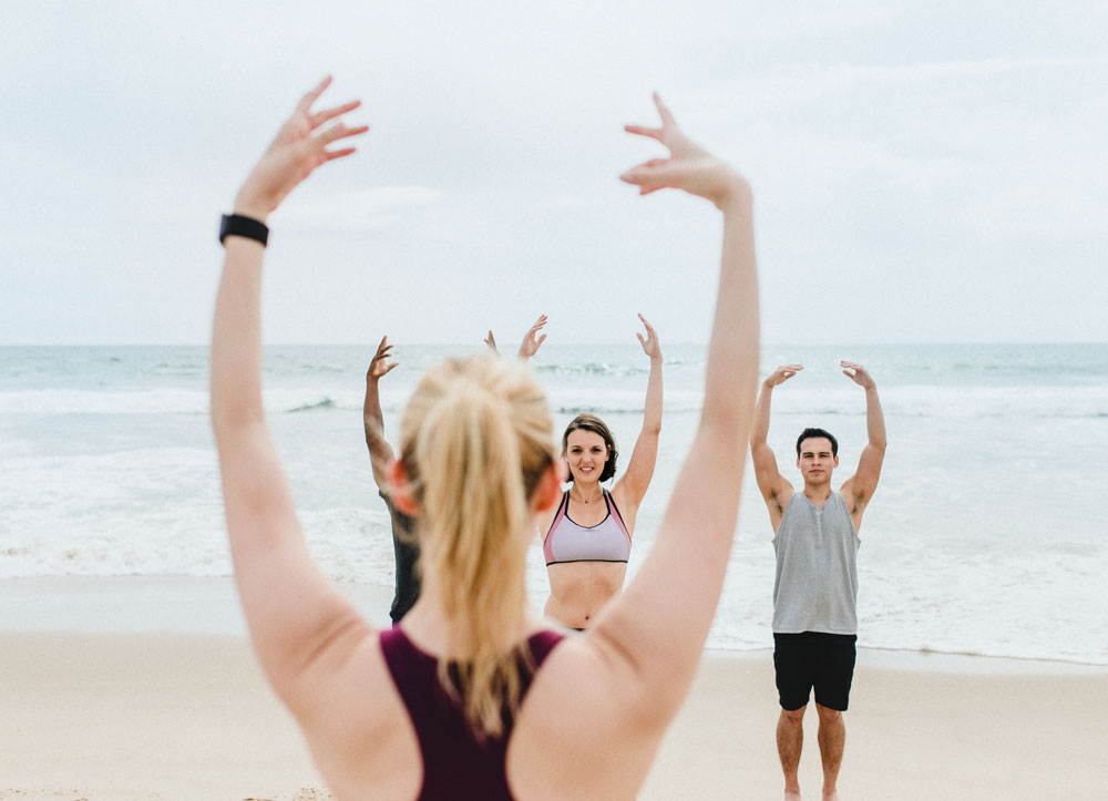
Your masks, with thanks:
M850 684L858 635L858 569L862 513L873 496L885 455L885 423L878 388L861 364L840 362L843 374L865 390L869 442L858 472L831 490L839 466L839 443L823 429L804 429L797 440L797 468L803 491L797 492L777 469L766 438L773 388L800 370L779 367L762 382L750 434L758 489L769 507L777 552L773 581L773 666L781 701L777 750L784 771L784 798L800 799L797 770L809 692L815 690L819 743L823 760L823 799L839 798L835 784L842 763Z

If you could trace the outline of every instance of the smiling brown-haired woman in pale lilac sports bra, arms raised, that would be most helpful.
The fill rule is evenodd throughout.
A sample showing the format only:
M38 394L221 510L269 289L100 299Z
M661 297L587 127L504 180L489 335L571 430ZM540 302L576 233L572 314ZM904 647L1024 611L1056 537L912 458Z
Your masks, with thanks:
M612 491L602 486L616 472L612 432L593 414L578 414L562 434L562 458L570 466L570 489L540 521L543 555L551 582L546 616L571 628L593 625L596 614L622 588L638 505L650 486L661 432L661 348L646 318L646 336L636 335L650 358L643 429L627 469ZM540 318L540 322L545 322ZM536 322L536 327L541 328ZM527 336L532 339L537 330ZM540 340L541 341L541 340ZM520 355L525 355L527 339ZM537 350L534 347L531 352Z

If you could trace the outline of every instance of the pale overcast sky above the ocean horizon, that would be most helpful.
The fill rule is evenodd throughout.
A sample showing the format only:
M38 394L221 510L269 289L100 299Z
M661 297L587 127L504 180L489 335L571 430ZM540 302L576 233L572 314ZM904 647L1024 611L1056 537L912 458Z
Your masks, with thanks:
M270 219L269 342L702 341L751 182L763 339L1108 341L1108 3L22 2L0 21L0 345L202 343L218 215L298 96L372 126Z

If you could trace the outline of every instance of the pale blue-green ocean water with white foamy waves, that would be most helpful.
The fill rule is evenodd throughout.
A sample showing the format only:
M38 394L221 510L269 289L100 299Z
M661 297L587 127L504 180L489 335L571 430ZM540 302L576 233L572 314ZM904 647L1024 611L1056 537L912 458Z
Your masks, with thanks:
M420 373L473 348L403 346L382 380L386 431ZM391 586L389 520L361 430L373 347L274 347L265 402L312 554L345 583ZM702 346L667 345L665 418L630 571L649 552L688 453ZM834 484L865 441L861 388L878 382L889 449L862 524L859 640L870 647L1108 665L1108 345L767 347L762 372L804 371L774 392L770 444L786 476L806 425L839 438ZM561 429L603 415L626 454L648 362L637 346L544 346L533 368ZM0 581L230 573L207 419L205 347L0 348ZM695 458L695 454L694 456ZM626 456L624 456L626 459ZM799 482L794 482L799 483ZM769 516L748 470L709 646L771 644ZM174 577L171 582L170 577ZM532 600L547 591L541 551Z

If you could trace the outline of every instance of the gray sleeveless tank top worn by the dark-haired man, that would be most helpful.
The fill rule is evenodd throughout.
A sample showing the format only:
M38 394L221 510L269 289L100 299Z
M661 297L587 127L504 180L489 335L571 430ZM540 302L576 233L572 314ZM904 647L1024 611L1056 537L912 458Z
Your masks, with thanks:
M858 546L842 495L817 506L794 492L773 537L773 631L858 634Z

